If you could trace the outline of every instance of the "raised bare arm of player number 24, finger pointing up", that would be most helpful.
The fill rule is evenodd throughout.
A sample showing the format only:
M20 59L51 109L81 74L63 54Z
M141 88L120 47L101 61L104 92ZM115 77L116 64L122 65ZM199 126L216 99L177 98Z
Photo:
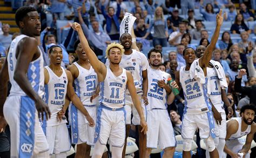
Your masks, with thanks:
M220 34L220 26L222 25L222 23L223 23L223 16L222 16L222 9L220 9L220 12L216 16L216 24L217 25L216 25L215 31L213 33L211 43L206 47L203 57L201 57L199 59L199 65L203 69L204 68L206 69L206 67L208 66L208 64L212 58L212 52L213 52L215 45L218 41L219 34ZM204 70L204 72L206 75L207 73L205 70Z

